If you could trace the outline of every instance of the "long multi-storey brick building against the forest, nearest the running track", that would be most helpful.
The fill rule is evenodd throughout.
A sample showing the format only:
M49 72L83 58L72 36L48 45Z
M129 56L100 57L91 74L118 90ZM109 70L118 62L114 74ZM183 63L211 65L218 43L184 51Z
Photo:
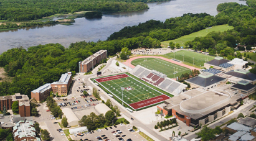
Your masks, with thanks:
M107 50L100 50L83 61L78 62L80 73L87 73L91 68L107 58Z

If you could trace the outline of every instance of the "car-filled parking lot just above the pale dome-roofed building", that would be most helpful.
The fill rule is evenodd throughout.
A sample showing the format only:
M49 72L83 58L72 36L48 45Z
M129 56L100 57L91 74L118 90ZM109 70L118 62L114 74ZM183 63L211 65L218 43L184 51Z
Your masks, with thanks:
M100 101L95 99L93 96L83 96L83 94L81 95L82 96L80 96L80 98L58 99L56 102L60 107L69 107L73 111L87 109L87 107L96 106L100 103Z

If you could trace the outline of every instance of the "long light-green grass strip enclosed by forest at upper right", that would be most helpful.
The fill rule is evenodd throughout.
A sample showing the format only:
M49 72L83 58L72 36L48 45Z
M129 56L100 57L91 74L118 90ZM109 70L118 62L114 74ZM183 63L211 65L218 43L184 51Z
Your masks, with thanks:
M217 25L217 26L212 27L211 29L203 29L203 30L200 30L198 32L194 32L194 33L189 34L189 35L184 35L183 37L180 37L178 39L166 40L166 41L161 42L161 43L162 43L162 45L164 45L164 47L168 47L169 42L173 41L174 43L179 43L179 45L181 45L181 47L185 47L185 45L184 45L185 42L187 42L189 40L194 40L196 37L204 37L212 31L224 32L224 31L229 30L229 29L234 29L234 27L229 26L227 24Z

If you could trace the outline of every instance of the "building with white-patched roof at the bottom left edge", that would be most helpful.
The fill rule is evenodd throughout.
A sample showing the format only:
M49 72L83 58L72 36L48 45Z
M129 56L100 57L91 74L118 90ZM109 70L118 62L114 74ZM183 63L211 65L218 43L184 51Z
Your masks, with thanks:
M36 137L36 129L31 121L19 121L15 124L12 130L15 141L34 140L40 141L40 138Z

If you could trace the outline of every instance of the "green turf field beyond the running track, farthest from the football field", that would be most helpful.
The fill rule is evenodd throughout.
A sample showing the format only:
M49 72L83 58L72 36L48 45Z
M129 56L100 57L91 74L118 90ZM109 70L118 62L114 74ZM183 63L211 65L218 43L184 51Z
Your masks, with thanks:
M194 57L194 65L195 66L204 66L204 63L206 63L206 61L211 61L213 60L215 57L212 57L210 55L204 55L202 53L197 53L197 52L191 52L188 50L181 50L178 52L175 52L175 55L173 53L167 53L166 56L174 58L176 60L180 60L183 61L183 55L184 55L184 63L188 63L188 65L193 66L193 57Z

